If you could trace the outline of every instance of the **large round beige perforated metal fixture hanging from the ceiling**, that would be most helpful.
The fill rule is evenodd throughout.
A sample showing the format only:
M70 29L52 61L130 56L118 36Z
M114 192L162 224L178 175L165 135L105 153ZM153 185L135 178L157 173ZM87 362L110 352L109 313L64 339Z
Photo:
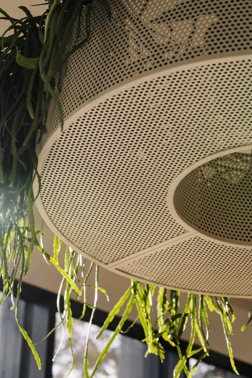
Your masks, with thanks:
M63 133L49 108L39 211L111 271L252 297L252 2L111 6L70 58Z

